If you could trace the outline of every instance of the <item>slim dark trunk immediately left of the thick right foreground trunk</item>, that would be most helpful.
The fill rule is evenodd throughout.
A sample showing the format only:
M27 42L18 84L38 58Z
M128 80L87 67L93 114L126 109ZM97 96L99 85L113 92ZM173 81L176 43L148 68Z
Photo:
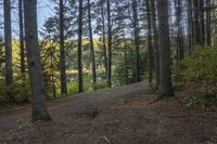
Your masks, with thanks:
M159 53L158 53L158 31L156 24L156 0L151 0L151 11L152 11L152 27L153 27L153 36L154 36L154 49L155 49L155 69L156 69L156 87L159 87Z

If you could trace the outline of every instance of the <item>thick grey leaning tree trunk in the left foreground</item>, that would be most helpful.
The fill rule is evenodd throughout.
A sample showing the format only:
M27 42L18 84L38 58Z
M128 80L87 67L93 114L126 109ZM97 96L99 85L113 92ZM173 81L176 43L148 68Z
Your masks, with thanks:
M36 8L37 0L24 0L26 51L31 88L31 118L34 121L51 119L46 105L44 84L38 44Z

